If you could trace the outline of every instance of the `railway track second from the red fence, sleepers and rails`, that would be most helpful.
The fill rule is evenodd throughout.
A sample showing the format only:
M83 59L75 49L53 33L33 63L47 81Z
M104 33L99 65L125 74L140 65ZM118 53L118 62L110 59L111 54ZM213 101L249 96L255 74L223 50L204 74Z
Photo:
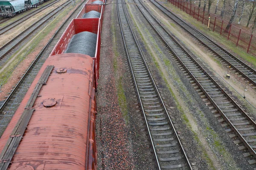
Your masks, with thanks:
M212 76L204 70L204 68L189 54L179 42L153 17L153 15L145 8L140 0L134 0L142 12L143 16L151 27L154 29L157 38L162 42L169 54L180 63L182 71L187 72L191 77L192 85L200 88L198 93L203 101L208 102L207 105L218 122L225 127L233 142L237 144L239 150L247 150L243 153L248 158L250 164L255 164L255 148L256 148L256 123L245 113L240 106L221 88L221 86L212 78ZM209 102L210 101L210 102ZM253 158L253 159L251 159Z

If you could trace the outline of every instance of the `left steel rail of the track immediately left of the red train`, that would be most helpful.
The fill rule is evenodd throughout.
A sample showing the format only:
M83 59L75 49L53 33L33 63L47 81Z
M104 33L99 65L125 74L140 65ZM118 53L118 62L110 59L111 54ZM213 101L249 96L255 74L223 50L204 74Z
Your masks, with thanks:
M26 79L27 76L29 76L29 73L32 71L32 68L35 67L36 63L38 62L39 59L43 56L44 52L46 51L47 47L51 44L52 40L57 36L57 34L61 31L61 28L64 27L64 25L67 23L67 21L70 19L70 17L77 11L77 9L83 5L83 3L87 0L83 0L79 6L75 8L75 10L70 14L70 16L64 21L64 23L61 24L61 26L58 28L58 30L55 32L55 34L52 36L52 38L47 42L47 45L44 46L44 48L41 50L41 52L38 54L38 56L35 58L35 60L32 62L32 64L29 66L25 74L21 77L15 88L12 90L12 92L9 94L9 96L6 98L4 103L0 106L0 115L3 114L3 109L7 107L9 100L13 97L17 89L20 87L22 84L23 80ZM17 108L16 108L17 109ZM0 135L1 136L1 135Z

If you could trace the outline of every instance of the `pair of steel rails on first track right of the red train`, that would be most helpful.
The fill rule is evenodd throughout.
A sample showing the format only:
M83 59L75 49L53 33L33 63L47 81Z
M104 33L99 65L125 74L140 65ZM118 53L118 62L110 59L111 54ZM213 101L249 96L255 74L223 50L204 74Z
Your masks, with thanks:
M183 147L182 147L182 144L181 144L180 139L179 139L179 137L178 137L178 135L177 135L177 132L176 132L176 130L175 130L175 127L174 127L174 125L173 125L173 123L172 123L172 121L171 121L171 119L170 119L170 117L169 117L169 114L168 114L168 112L167 112L167 110L166 110L166 107L165 107L165 105L164 105L164 103L163 103L163 100L162 100L162 98L161 98L161 96L160 96L160 94L159 94L159 91L157 90L157 86L155 85L154 79L153 79L153 77L152 77L152 75L151 75L151 73L150 73L150 71L149 71L149 68L148 68L146 62L145 62L145 59L144 59L143 54L142 54L142 51L140 50L140 47L139 47L139 45L138 45L138 42L137 42L137 40L136 40L136 38L135 38L134 32L132 31L132 28L131 28L131 25L130 25L130 23L129 23L127 14L126 14L126 12L125 12L125 7L124 7L124 4L123 4L123 3L122 3L122 7L123 7L123 10L124 10L124 13L125 13L125 17L126 17L126 20L127 20L127 23L128 23L129 30L131 31L131 35L132 35L132 37L133 37L133 40L134 40L134 42L135 42L135 44L136 44L136 46L137 46L137 49L138 49L139 53L140 53L140 57L141 57L141 59L143 60L143 64L145 65L145 68L146 68L146 70L147 70L148 76L150 77L151 82L152 82L152 84L153 84L153 86L154 86L154 90L156 91L157 96L158 96L158 98L159 98L159 100L160 100L160 103L161 103L161 105L162 105L163 108L164 108L164 112L165 112L165 114L166 114L166 116L167 116L167 119L168 119L168 121L169 121L169 125L171 126L171 128L172 128L172 130L173 130L173 132L174 132L174 134L175 134L175 137L176 137L176 139L177 139L177 142L178 142L178 144L179 144L179 147L181 148L181 152L182 152L183 156L185 156L186 164L188 165L189 169L192 170L192 167L191 167L191 165L190 165L190 163L189 163L189 160L188 160L188 158L187 158L187 156L186 156L185 150L184 150ZM147 118L146 118L146 115L145 115L145 110L144 110L144 107L143 107L143 102L142 102L142 100L140 99L140 97L141 97L142 94L140 93L139 87L138 87L138 85L137 85L137 80L136 80L136 77L135 77L135 75L134 75L133 66L132 66L131 59L130 59L129 52L128 52L128 46L127 46L127 44L126 44L126 42L125 42L125 35L124 35L124 33L123 33L122 22L121 22L121 19L120 19L119 8L118 8L118 2L117 2L117 4L116 4L116 8L117 8L117 14L118 14L119 26L120 26L120 29L121 29L122 39L123 39L124 46L125 46L125 51L126 51L126 54L127 54L127 56L128 56L128 62L129 62L129 66L130 66L130 68L131 68L131 74L132 74L132 77L133 77L133 80L134 80L136 92L137 92L137 95L138 95L138 100L139 100L139 102L140 102L140 107L141 107L142 112L143 112L143 117L144 117L145 124L146 124L146 127L147 127L148 136L149 136L149 139L150 139L150 142L151 142L151 147L152 147L152 149L153 149L153 151L154 151L154 156L155 156L155 158L156 158L157 167L158 167L158 169L161 169L161 166L160 166L160 163L159 163L159 160L158 160L159 158L158 158L157 152L156 152L156 150L155 150L155 148L154 148L155 146L154 146L153 138L152 138L152 136L151 136L150 127L148 126L148 121L147 121ZM131 40L130 40L130 41L131 41Z

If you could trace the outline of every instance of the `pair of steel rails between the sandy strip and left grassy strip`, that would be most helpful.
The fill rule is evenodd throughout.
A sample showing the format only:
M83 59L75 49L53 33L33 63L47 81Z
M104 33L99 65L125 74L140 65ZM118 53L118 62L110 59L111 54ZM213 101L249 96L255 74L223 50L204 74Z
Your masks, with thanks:
M69 3L67 3L65 6L67 6L68 4L70 4L72 1L70 0ZM62 5L64 5L65 3L63 3ZM61 9L63 9L64 7L61 5L61 7L56 8L55 10L49 12L47 15L45 15L43 18L41 18L40 20L36 21L35 23L33 23L31 26L29 26L29 28L26 28L26 30L24 30L22 33L20 33L19 35L17 35L15 38L13 38L11 41L9 41L8 43L6 43L5 45L3 45L3 47L0 48L0 51L2 51L4 48L8 48L9 46L11 46L5 53L3 53L0 56L0 59L2 59L4 56L6 56L6 54L8 54L13 48L15 48L20 42L22 42L23 40L26 39L26 37L28 37L30 34L32 34L36 29L38 29L40 26L42 26L44 23L46 23L50 18L52 18L55 14L58 13L58 11L60 11ZM55 12L54 12L55 11ZM54 12L54 13L53 13ZM53 14L52 14L53 13ZM48 15L50 15L49 18L46 18ZM46 18L46 20L44 20ZM39 23L40 21L44 20L41 24L39 24L38 26L36 26L32 31L30 31L25 37L23 37L21 40L18 40L17 43L15 43L15 45L11 45L11 43L13 41L15 41L18 37L22 36L22 34L25 34L26 31L28 31L30 28L32 28L33 26L35 26L37 23Z

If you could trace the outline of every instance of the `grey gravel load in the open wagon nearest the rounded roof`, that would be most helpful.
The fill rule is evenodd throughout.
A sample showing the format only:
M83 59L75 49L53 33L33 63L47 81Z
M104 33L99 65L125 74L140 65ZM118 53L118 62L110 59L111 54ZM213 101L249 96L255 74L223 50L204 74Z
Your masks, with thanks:
M78 53L95 56L97 34L83 31L72 37L64 53Z

